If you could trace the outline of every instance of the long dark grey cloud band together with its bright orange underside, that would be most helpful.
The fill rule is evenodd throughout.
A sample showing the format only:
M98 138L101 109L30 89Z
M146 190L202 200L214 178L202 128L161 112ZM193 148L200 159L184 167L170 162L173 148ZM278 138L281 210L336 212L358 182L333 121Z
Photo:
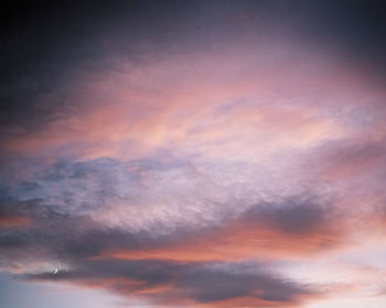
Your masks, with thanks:
M81 166L81 169L86 167ZM67 167L64 170L68 170ZM100 166L94 167L100 169ZM164 172L164 166L159 167ZM88 167L86 169L89 180L93 176ZM62 168L60 170L63 173ZM50 174L50 183L55 182L53 177L61 180L56 173L55 176ZM73 178L73 170L67 176ZM64 184L61 183L61 187ZM43 191L39 194L44 196ZM112 194L115 198L116 194ZM345 248L351 230L342 220L336 228L340 215L330 205L321 205L305 196L277 204L261 201L239 213L233 210L232 204L225 204L205 224L197 223L202 216L191 220L180 216L165 217L154 212L151 205L149 211L144 210L143 216L132 218L135 221L127 221L126 226L106 223L108 220L101 223L95 211L103 209L105 212L106 208L115 211L114 205L61 205L61 199L57 200L57 205L43 199L2 204L4 212L22 215L32 222L9 228L2 234L0 245L4 249L6 260L10 254L15 256L14 262L54 257L69 264L109 257L174 262L309 257ZM130 212L138 211L129 207L127 217Z

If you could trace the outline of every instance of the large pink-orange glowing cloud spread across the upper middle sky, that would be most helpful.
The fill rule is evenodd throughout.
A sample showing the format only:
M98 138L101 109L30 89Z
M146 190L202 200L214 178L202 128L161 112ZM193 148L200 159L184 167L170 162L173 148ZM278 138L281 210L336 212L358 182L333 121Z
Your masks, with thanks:
M41 130L9 135L4 148L30 156L129 160L168 147L184 154L224 157L228 153L251 160L259 153L265 156L346 134L342 123L322 116L323 105L313 103L322 100L323 108L329 107L324 96L339 96L329 91L335 84L325 76L297 73L290 62L282 65L291 78L282 75L282 67L268 65L267 70L267 65L248 54L195 54L142 64L125 74L100 73L105 78L85 78L69 95L75 111ZM330 69L328 76L336 74ZM305 80L311 89L322 89L304 94L307 102L293 103ZM294 90L280 94L282 88Z

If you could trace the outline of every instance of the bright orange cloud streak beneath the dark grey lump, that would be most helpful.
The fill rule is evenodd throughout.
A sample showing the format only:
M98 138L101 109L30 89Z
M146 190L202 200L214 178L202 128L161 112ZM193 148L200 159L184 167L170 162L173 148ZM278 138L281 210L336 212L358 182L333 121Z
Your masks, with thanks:
M248 258L299 258L323 254L353 244L347 226L323 222L310 230L290 232L265 221L230 220L219 228L195 232L158 248L110 250L101 256L125 260L242 261Z

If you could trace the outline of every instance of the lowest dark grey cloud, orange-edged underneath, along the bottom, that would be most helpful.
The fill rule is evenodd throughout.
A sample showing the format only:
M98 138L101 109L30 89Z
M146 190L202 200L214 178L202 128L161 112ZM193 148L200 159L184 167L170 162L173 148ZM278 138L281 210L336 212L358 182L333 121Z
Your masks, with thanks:
M197 304L251 297L269 307L279 307L298 305L304 298L317 295L310 286L269 273L265 264L83 261L73 270L56 275L30 274L24 278L92 284L126 296L148 297L153 302L172 306L173 302L186 300L195 307Z

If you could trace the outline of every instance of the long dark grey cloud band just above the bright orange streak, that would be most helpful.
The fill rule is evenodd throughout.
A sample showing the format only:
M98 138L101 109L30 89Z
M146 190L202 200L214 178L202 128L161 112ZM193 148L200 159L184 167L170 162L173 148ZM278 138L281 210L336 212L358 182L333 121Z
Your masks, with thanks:
M168 249L173 244L190 241L200 242L200 239L216 234L216 231L229 230L229 226L234 222L247 226L258 223L283 233L307 235L313 231L329 229L332 231L333 222L336 220L336 213L331 207L303 196L279 204L261 202L249 207L236 218L232 212L223 210L221 220L207 227L181 223L167 233L157 233L153 229L130 230L100 223L93 219L93 209L98 207L96 205L85 213L79 213L42 204L39 199L29 201L8 199L1 204L1 215L24 216L31 218L32 222L30 226L11 228L3 232L0 235L0 245L3 249L17 250L21 256L25 249L36 248L37 251L45 251L49 256L55 255L69 262L99 256L103 252L111 250L136 252L146 249ZM157 223L162 228L162 221L156 219L153 224ZM33 254L28 253L28 256L33 257Z

